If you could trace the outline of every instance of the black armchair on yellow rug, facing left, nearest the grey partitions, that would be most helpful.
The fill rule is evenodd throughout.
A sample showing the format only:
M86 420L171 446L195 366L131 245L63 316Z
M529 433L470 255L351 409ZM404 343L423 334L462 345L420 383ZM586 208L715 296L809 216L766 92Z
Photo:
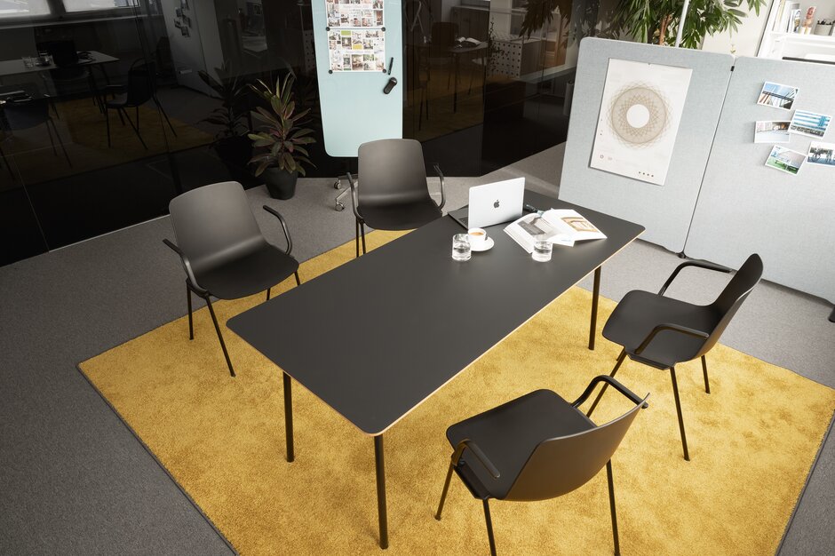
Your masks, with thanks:
M697 266L723 273L731 272L730 268L706 261L688 260L681 263L672 271L658 293L640 290L627 293L608 318L606 326L603 327L603 337L624 347L617 356L615 368L609 374L611 377L615 376L627 355L632 361L638 361L656 369L670 369L672 394L679 416L681 447L684 449L684 459L689 461L688 440L684 433L684 419L681 417L675 366L678 363L701 357L704 392L711 393L707 376L707 360L704 356L719 341L722 332L734 318L739 306L759 282L762 276L762 259L756 253L751 255L722 290L719 298L707 306L693 305L686 301L664 297L664 292L672 281L681 269L687 266ZM592 411L597 407L604 392L606 392L605 386L592 403L588 412L589 416L592 415Z

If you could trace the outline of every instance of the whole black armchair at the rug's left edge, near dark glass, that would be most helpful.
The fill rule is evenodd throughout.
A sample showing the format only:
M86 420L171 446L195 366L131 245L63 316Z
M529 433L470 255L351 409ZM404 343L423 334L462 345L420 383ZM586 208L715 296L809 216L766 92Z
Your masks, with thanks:
M261 234L247 195L236 181L188 191L172 199L169 210L177 244L167 239L163 242L177 252L186 270L188 338L195 338L191 308L194 292L209 307L229 374L235 377L211 297L245 298L266 290L269 299L270 288L290 274L295 275L297 285L301 283L298 261L290 257L293 242L287 224L277 210L264 205L264 210L282 224L287 249L280 250Z

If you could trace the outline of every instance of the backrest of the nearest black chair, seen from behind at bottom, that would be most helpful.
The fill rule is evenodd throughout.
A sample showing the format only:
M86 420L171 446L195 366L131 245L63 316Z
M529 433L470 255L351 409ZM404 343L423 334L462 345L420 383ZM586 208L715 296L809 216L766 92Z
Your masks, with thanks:
M585 485L612 458L646 400L605 425L539 442L504 499L547 500Z

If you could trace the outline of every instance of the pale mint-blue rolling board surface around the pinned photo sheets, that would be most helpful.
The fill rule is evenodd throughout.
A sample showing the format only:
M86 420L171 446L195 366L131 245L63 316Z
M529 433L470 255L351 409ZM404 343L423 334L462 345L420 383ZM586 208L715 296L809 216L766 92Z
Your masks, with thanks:
M312 4L316 74L322 107L322 133L330 156L355 157L368 141L403 136L403 34L401 0L384 0L386 71L330 71L325 0ZM376 28L376 27L375 27ZM344 27L331 30L346 30ZM392 63L392 73L387 69ZM388 94L389 79L397 84Z

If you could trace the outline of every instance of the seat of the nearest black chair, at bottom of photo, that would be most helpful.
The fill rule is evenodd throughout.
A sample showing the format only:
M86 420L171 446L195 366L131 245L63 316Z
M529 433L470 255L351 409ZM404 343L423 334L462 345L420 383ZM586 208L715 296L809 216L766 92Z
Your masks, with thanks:
M537 390L450 426L447 439L453 447L465 439L478 444L501 476L493 479L470 450L464 451L456 473L476 498L502 499L540 442L594 427L557 393Z

